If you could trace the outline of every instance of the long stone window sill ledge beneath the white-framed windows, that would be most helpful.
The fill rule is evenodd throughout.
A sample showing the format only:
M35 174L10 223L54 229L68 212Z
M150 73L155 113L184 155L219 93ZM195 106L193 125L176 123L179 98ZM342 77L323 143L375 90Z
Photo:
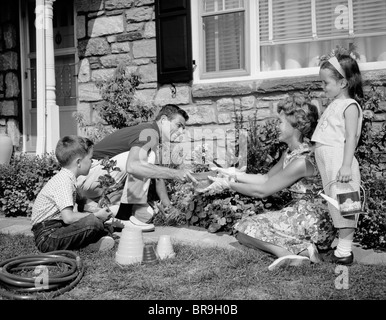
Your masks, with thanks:
M386 86L386 69L362 71L364 85ZM271 79L251 79L192 85L193 98L241 96L256 93L283 93L322 89L319 75L281 77Z

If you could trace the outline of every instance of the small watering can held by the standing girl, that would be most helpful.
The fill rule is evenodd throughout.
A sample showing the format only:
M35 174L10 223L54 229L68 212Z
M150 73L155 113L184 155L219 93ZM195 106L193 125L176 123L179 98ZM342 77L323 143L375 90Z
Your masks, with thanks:
M336 182L336 180L330 181L329 183L327 183L325 188L331 186L331 184ZM357 213L365 214L364 207L366 201L366 192L362 185L360 185L360 188L363 192L363 203L361 203L359 191L338 193L336 195L337 199L333 199L323 194L322 191L319 191L318 195L320 195L322 198L331 203L336 209L338 209L343 217L352 216Z

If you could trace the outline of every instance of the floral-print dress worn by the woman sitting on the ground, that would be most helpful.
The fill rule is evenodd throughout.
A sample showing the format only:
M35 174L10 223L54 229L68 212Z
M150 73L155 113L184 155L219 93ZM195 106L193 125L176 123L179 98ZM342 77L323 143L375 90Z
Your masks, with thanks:
M313 152L305 143L292 152L286 152L283 167L295 159L306 159L314 169L313 177L302 178L289 190L293 201L278 211L242 218L235 230L252 238L283 247L293 254L314 243L318 249L328 249L335 238L335 228L325 200L316 193L322 189Z

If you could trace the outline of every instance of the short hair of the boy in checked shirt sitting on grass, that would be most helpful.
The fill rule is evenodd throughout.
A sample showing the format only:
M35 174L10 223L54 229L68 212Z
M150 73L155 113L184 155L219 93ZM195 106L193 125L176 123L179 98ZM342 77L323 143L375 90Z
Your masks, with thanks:
M76 157L82 159L88 155L94 143L84 137L65 136L56 145L55 155L62 167L68 166Z

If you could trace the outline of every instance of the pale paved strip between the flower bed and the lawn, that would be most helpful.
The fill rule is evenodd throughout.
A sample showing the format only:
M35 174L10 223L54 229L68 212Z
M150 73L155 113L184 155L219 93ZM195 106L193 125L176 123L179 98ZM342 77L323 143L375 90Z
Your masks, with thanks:
M0 216L0 233L32 236L30 219ZM245 249L233 236L222 232L209 233L206 229L198 227L156 227L153 232L144 232L143 239L145 243L157 242L161 235L170 235L172 241L191 245L217 246L231 250ZM364 250L358 246L354 246L353 252L357 263L386 266L386 252L376 252L372 249Z

